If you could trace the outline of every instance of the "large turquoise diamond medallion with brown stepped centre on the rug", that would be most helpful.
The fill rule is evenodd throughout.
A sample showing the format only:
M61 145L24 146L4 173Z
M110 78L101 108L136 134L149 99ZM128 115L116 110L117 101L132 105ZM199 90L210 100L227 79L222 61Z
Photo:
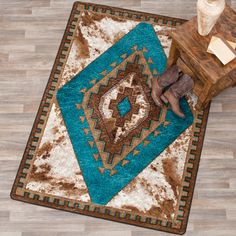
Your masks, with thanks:
M167 59L150 24L140 23L57 92L91 200L107 204L193 122L151 98Z

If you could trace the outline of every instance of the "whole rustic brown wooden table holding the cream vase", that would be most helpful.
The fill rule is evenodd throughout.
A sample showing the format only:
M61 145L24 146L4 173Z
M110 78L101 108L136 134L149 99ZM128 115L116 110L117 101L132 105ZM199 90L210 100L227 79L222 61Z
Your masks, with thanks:
M192 76L198 109L205 108L224 89L236 85L236 59L224 66L216 56L207 53L213 35L236 42L236 13L229 6L206 37L197 32L197 17L171 32L168 66L177 63L184 73Z

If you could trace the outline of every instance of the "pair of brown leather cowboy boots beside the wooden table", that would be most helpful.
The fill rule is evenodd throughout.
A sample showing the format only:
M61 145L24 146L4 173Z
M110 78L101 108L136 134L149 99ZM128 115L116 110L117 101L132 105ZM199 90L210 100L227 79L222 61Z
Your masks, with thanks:
M153 79L152 98L157 106L162 107L163 102L169 103L173 112L184 118L185 115L179 106L179 99L191 91L193 85L192 78L183 74L177 65L173 65L159 78Z

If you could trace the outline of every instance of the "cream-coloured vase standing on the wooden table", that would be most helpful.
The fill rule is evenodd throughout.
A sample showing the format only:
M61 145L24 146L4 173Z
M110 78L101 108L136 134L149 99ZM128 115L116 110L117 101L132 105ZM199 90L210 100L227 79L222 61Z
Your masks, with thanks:
M198 33L208 35L225 8L225 0L198 0Z

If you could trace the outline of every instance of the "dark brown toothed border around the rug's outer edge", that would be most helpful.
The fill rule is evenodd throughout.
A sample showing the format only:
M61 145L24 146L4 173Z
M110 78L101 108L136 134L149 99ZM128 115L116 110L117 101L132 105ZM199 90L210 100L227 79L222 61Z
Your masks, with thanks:
M196 182L196 175L198 172L198 166L199 166L199 161L200 161L200 156L201 156L201 150L202 150L202 146L203 146L203 140L204 140L204 134L205 134L205 130L206 130L206 124L207 124L207 118L208 118L208 114L209 114L209 108L210 105L206 108L206 110L204 112L202 112L202 117L199 117L200 120L202 120L200 127L198 127L200 129L200 134L198 137L198 141L195 144L196 146L196 152L193 153L192 155L194 155L194 160L193 160L193 168L191 170L191 173L193 173L193 175L191 176L190 182L189 182L189 191L188 191L188 195L186 197L186 199L181 199L183 201L186 202L185 206L183 207L183 220L182 220L182 224L181 227L179 229L177 228L171 228L171 225L166 225L166 226L162 226L161 222L159 224L152 224L151 222L142 222L141 218L137 218L134 220L129 219L129 214L127 214L127 217L124 218L120 218L119 214L117 214L117 212L115 212L115 215L111 215L110 211L108 209L105 209L104 213L99 213L96 212L96 207L95 207L95 211L90 211L89 210L89 206L88 209L85 207L84 209L79 209L76 208L75 206L72 208L69 206L69 202L67 202L67 205L60 205L60 200L55 198L53 202L47 202L46 199L44 199L43 201L40 201L39 198L35 197L35 198L29 198L28 195L24 195L24 196L20 196L16 194L16 190L17 187L19 187L21 185L20 182L20 178L23 177L23 175L25 173L23 173L23 169L26 168L26 161L27 159L32 159L33 155L31 155L31 151L35 151L36 147L33 145L34 143L37 143L38 139L37 137L35 137L35 133L37 132L41 132L41 130L39 130L38 126L39 124L44 121L42 121L41 115L44 114L45 117L47 117L47 112L48 112L48 107L50 107L50 104L53 101L53 97L54 97L54 91L56 90L56 86L58 83L58 79L60 77L60 68L62 67L62 60L63 58L65 58L65 54L63 54L63 51L68 51L68 48L66 50L65 48L65 44L69 43L71 38L71 29L74 29L76 27L76 23L78 21L78 18L75 17L76 13L77 13L77 8L79 5L84 6L84 8L89 8L89 7L93 7L93 8L101 8L103 9L102 12L100 13L106 13L107 10L109 10L110 12L113 11L118 11L119 14L121 14L122 12L122 18L124 18L124 14L127 14L127 18L130 19L134 19L133 18L133 14L137 14L136 15L136 20L140 20L140 21L149 21L150 22L150 18L153 18L154 23L158 23L158 24L163 24L163 25L168 25L169 23L172 25L180 25L181 23L186 22L186 20L183 19L178 19L178 18L172 18L172 17L166 17L166 16L161 16L161 15L155 15L155 14L149 14L149 13L145 13L145 12L141 12L141 11L134 11L134 10L127 10L127 9L122 9L122 8L118 8L118 7L110 7L110 6L105 6L105 5L100 5L100 4L93 4L93 3L85 3L85 2L75 2L73 4L73 8L71 10L71 14L69 17L69 20L67 22L67 26L53 65L53 69L52 72L50 74L49 80L47 82L29 139L27 141L27 145L23 154L23 158L21 160L12 190L11 190L11 198L14 200L19 200L19 201L23 201L23 202L27 202L27 203L32 203L35 205L41 205L41 206L46 206L46 207L50 207L50 208L56 208L56 209L60 209L60 210L65 210L65 211L69 211L69 212L76 212L76 213L80 213L83 215L89 215L89 216L94 216L96 218L103 218L103 219L108 219L108 220L112 220L115 222L122 222L122 223L126 223L126 224L131 224L131 225L136 225L136 226L141 226L141 227L146 227L146 228L151 228L151 229L156 229L156 230L161 230L164 232L169 232L169 233L177 233L177 234L184 234L187 228L187 222L188 222L188 217L189 217L189 212L190 212L190 208L191 208L191 202L192 202L192 197L193 197L193 191L194 191L194 187L195 187L195 182ZM86 9L85 9L86 10ZM103 12L105 11L105 12ZM113 14L112 14L113 15ZM117 16L117 15L116 15ZM119 15L118 15L119 16ZM143 16L145 16L145 18L143 19ZM170 22L169 22L170 21ZM164 23L165 22L165 23ZM73 34L72 34L73 35ZM196 123L197 125L198 123ZM36 195L35 195L36 196ZM127 219L128 218L128 219Z

